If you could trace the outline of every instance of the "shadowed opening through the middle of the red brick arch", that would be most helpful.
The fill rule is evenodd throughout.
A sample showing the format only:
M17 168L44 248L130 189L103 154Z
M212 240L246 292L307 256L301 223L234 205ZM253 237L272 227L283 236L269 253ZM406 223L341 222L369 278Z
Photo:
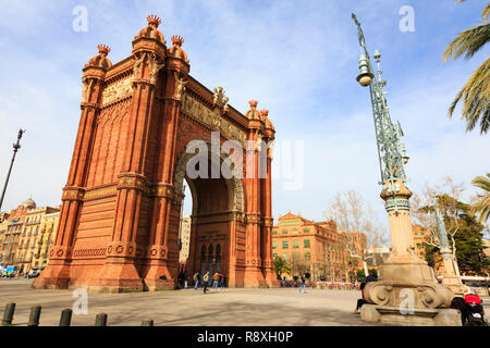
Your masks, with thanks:
M229 285L235 274L235 261L231 253L235 243L236 217L243 214L243 184L237 177L225 178L226 174L212 178L212 165L221 164L223 159L211 161L212 154L208 154L208 177L191 178L186 174L187 163L194 154L182 153L175 166L174 188L182 197L177 204L182 240L180 277L192 281L193 275L198 273L201 285L206 272L210 274L209 282L218 272L224 274L225 285ZM232 281L232 284L235 282Z

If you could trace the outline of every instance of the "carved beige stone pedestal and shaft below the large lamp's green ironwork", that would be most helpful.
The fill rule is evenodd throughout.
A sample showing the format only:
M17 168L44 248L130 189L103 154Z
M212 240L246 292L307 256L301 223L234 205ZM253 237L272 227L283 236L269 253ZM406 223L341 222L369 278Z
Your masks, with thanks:
M385 201L392 251L379 268L379 281L364 289L369 303L362 319L393 325L461 325L456 310L449 309L454 294L438 284L433 270L415 251L408 199L412 192L399 181L387 182L381 198Z

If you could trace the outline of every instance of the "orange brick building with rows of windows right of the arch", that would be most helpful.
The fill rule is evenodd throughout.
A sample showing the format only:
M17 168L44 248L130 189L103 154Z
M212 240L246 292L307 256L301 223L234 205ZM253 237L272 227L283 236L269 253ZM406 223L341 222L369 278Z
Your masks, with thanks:
M348 279L345 243L333 221L314 222L291 212L272 228L272 256L286 259L293 276L309 272L314 282Z

